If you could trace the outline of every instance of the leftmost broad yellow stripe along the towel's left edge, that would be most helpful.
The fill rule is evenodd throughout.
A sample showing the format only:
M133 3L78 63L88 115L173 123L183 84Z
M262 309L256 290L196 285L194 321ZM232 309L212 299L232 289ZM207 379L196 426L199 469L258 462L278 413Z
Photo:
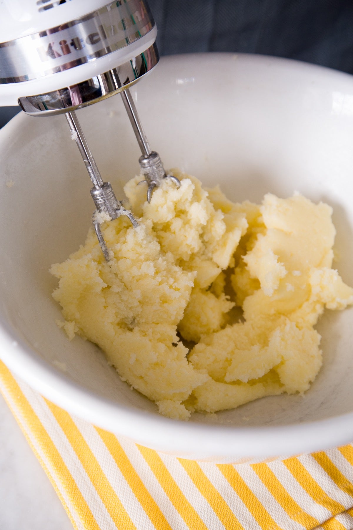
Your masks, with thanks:
M62 460L60 453L53 444L52 439L48 435L46 429L44 429L42 423L40 422L37 414L33 411L31 405L26 400L24 394L21 391L19 385L17 385L15 379L12 377L10 370L0 361L0 377L10 393L15 406L17 407L19 413L23 417L23 421L28 425L29 430L32 432L34 438L37 440L38 445L41 447L43 453L48 458L50 465L53 468L53 472L57 475L58 480L61 482L62 487L67 492L67 496L70 499L71 504L78 517L82 520L84 526L89 528L89 530L99 530L99 526L95 518L93 517L92 512L90 511L87 502L85 501L82 493L77 487L73 476L66 467L65 462ZM21 423L20 423L21 427ZM25 433L24 433L25 434ZM49 479L51 478L49 474ZM55 483L51 481L53 486ZM65 507L65 506L64 506ZM66 508L66 507L65 507ZM68 511L68 515L70 515Z

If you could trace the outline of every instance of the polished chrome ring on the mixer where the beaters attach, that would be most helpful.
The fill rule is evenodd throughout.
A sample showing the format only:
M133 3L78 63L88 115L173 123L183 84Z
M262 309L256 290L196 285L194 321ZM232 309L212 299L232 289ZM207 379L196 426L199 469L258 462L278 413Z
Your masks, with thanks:
M19 104L30 116L48 116L80 109L133 85L150 72L158 61L157 46L153 44L142 54L108 72L46 94L20 98Z

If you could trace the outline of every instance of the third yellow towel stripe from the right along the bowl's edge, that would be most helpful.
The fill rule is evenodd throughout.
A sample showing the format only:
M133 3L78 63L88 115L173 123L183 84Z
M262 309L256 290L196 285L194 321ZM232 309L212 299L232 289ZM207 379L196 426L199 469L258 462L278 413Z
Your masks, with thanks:
M345 510L345 507L341 505L340 502L331 499L331 497L320 488L319 484L312 478L311 474L297 458L287 458L283 463L306 493L309 494L315 502L331 511L332 515L339 514L341 511Z

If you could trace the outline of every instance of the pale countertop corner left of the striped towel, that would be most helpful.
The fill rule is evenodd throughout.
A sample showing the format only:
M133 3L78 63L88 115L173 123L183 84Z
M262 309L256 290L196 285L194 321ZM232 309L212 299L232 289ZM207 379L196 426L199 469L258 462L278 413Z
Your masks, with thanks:
M0 528L73 530L64 507L1 394Z

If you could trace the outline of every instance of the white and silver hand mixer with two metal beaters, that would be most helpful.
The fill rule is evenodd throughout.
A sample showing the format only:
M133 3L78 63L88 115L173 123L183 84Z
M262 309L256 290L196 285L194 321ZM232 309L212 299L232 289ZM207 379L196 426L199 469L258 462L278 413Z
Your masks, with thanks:
M49 28L49 29L48 29ZM65 113L93 183L93 225L106 261L101 224L137 220L103 182L76 110L121 93L142 155L147 200L169 178L151 151L129 87L158 63L157 28L146 0L3 0L0 3L0 105L20 104L30 116ZM105 215L102 215L105 214Z

